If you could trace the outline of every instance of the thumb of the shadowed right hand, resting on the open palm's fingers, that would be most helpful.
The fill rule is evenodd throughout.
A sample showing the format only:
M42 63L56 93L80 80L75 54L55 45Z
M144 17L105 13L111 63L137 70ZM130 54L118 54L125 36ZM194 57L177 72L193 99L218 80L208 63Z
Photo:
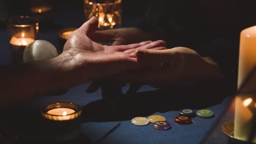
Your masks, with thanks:
M141 62L165 62L171 63L173 52L171 49L168 50L147 50L139 49L136 51L138 61Z

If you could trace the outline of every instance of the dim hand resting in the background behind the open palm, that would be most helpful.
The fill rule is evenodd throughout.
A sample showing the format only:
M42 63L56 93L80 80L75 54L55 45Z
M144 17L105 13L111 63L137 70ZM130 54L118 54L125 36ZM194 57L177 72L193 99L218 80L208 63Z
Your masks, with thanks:
M96 42L109 41L112 45L127 45L150 39L148 34L134 27L96 31L90 38Z

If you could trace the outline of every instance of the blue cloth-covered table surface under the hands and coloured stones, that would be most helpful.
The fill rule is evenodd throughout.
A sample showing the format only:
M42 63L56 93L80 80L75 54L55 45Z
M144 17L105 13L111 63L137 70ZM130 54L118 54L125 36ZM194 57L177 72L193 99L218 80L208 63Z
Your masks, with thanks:
M1 65L10 64L6 35L8 35L7 31L0 32ZM39 38L50 41L56 47L59 46L56 31L40 32ZM86 82L71 87L60 95L45 95L45 97L28 101L19 106L19 110L25 110L26 113L39 113L40 107L55 101L77 103L83 106L84 112L80 130L89 143L97 142L119 123L120 126L101 143L228 143L220 126L234 118L234 111L225 113L234 94L226 91L224 83L220 85L219 83L218 81L207 83L207 85L184 83L160 89L143 85L138 91L126 94L129 83L121 83L123 84L121 87L113 81L104 80L101 88L89 93L87 89L94 82ZM122 91L122 94L111 93L112 91ZM173 118L178 116L178 111L183 108L210 109L215 116L192 118L193 124L189 125L174 123ZM133 117L150 115L165 116L172 128L162 131L154 129L152 124L136 126L131 123Z

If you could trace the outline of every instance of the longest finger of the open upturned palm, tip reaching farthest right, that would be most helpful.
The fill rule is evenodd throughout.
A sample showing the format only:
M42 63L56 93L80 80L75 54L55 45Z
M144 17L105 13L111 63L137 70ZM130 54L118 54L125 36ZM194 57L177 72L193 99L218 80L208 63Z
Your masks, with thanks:
M152 43L149 43L147 45L142 45L140 47L137 47L136 49L153 49L155 47L165 47L166 46L166 43L165 41L163 40L156 40L156 41L153 41ZM136 49L131 49L131 50L126 50L124 51L125 53L132 53L132 52L135 52Z

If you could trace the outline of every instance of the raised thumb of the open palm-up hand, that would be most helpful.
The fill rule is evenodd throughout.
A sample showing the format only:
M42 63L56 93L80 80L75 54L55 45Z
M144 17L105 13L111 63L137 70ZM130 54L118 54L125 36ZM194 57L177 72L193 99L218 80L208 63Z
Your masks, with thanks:
M95 16L92 16L90 20L86 21L81 27L78 29L80 31L85 32L87 36L92 35L96 30L98 26L98 19Z

